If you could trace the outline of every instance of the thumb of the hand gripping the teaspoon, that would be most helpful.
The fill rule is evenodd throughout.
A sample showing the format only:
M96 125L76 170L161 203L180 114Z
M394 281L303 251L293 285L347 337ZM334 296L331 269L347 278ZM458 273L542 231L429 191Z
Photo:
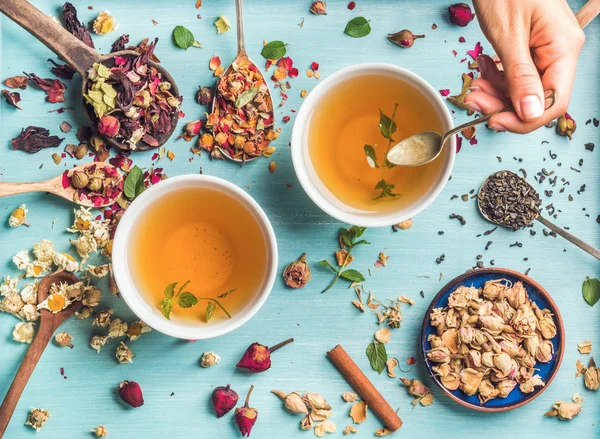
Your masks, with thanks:
M532 122L544 114L544 88L528 43L528 36L517 40L501 60L513 107L521 120Z

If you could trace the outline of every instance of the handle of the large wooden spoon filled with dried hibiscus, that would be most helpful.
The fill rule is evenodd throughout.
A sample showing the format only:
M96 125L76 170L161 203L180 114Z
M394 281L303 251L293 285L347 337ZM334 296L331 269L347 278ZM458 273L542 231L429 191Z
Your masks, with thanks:
M24 28L81 75L100 54L71 35L27 0L0 0L0 11Z

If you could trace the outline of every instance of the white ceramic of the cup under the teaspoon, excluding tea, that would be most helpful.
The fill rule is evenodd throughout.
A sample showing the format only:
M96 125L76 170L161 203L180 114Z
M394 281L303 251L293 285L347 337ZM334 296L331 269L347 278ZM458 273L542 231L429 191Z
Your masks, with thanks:
M442 172L437 176L431 188L420 198L415 200L409 206L399 206L397 210L383 212L359 211L333 195L325 184L319 178L313 166L309 154L309 124L314 109L319 106L327 92L335 88L340 82L356 76L364 75L387 75L398 78L418 89L423 99L427 99L436 109L444 131L450 130L454 124L450 111L446 107L439 93L429 85L423 78L401 67L385 63L365 63L345 67L321 81L306 97L294 122L292 130L292 160L296 176L308 196L325 213L343 221L347 224L353 224L365 227L383 227L391 226L399 222L413 218L442 192L452 167L454 166L454 156L456 151L456 140L454 136L446 141L444 150L440 159L443 160ZM443 134L443 133L440 133Z

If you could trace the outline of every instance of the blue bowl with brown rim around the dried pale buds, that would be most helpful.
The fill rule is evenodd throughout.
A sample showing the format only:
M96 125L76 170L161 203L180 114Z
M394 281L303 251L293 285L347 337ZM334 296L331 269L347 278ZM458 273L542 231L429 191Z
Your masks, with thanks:
M429 342L427 341L427 337L430 334L435 334L436 330L430 324L429 314L433 310L433 308L443 308L448 305L448 297L450 293L456 290L461 285L464 286L474 286L476 288L482 287L485 282L492 279L508 279L511 282L521 281L529 294L529 298L533 300L541 309L547 308L552 314L554 314L554 321L556 323L557 333L556 336L552 339L552 344L554 345L554 355L552 356L552 360L548 363L537 363L535 365L536 369L539 369L536 373L539 374L542 380L546 383L545 386L536 387L532 393L523 393L519 389L517 385L514 390L509 394L507 398L495 398L491 401L486 402L485 404L481 404L479 402L479 398L477 395L467 396L462 390L448 390L442 382L439 380L437 376L431 371L431 367L435 364L427 359L425 353L431 349ZM448 397L458 402L460 405L468 407L473 410L479 410L484 412L501 412L506 410L512 410L517 407L522 406L523 404L527 404L528 402L534 400L536 397L540 395L552 382L552 379L558 372L558 368L560 367L560 363L562 362L564 350L565 350L565 330L563 326L562 317L560 316L560 312L552 300L552 297L548 294L548 292L536 281L525 276L522 273L517 271L509 270L506 268L483 268L475 271L468 271L465 274L458 276L457 278L451 280L444 288L440 290L440 292L435 296L431 305L427 309L425 317L423 319L423 327L421 330L421 352L423 355L423 359L425 364L427 365L427 369L429 374L439 386L439 388L444 392Z

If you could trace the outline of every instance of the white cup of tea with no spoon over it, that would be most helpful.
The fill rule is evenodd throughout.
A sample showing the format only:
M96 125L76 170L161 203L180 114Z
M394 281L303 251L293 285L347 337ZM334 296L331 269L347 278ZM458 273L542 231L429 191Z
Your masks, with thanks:
M192 198L186 198L188 196ZM225 212L230 212L234 217L231 218L232 224L238 221L240 226L230 231L227 229L229 226L225 224L229 218L219 221L219 217L216 216L218 212L211 217L215 206L211 209L211 206L203 205L207 199L220 200L216 210L222 208ZM161 219L160 209L170 215ZM181 219L178 220L177 215L182 215ZM183 215L189 215L190 219ZM246 225L241 222L242 220ZM164 224L168 221L172 221L173 224L171 226ZM250 224L252 222L254 223ZM173 234L169 234L168 237L158 236L162 233L162 227L166 227L164 230L170 230ZM250 230L248 234L240 234L247 230ZM228 233L232 235L229 236ZM250 234L252 239L248 238ZM215 236L219 237L219 241L215 241ZM238 246L239 241L247 241L245 247ZM148 256L152 252L147 249L153 249L152 257ZM172 257L164 254L173 249L179 251ZM202 258L204 258L203 263L196 262L196 259L202 261ZM223 263L225 260L231 267L225 266L227 265ZM212 263L216 268L206 271L206 266ZM172 337L189 340L207 339L218 337L242 326L265 303L277 274L277 241L265 212L245 191L221 178L181 175L168 178L146 189L131 203L115 234L112 264L115 281L123 299L142 321ZM178 272L181 266L185 267L185 271ZM252 270L250 275L246 273L251 278L251 282L236 277L239 272L245 273L244 270ZM228 274L226 276L218 273ZM145 279L146 277L148 279ZM163 278L164 280L160 280ZM231 303L235 303L235 309L227 309L231 317L228 318L223 309L215 304L212 311L215 317L207 322L205 310L211 300L200 299L192 308L180 309L177 296L173 302L170 319L165 317L163 308L159 306L159 299L164 298L163 290L168 284L178 282L174 289L176 294L179 287L190 279L195 280L184 290L196 297L207 296L207 291L215 288L223 294L228 290L236 289L235 292L226 294L223 299L211 295L225 309L233 306L230 305ZM245 290L237 291L240 286ZM236 297L236 294L240 296ZM178 315L178 312L181 315Z

